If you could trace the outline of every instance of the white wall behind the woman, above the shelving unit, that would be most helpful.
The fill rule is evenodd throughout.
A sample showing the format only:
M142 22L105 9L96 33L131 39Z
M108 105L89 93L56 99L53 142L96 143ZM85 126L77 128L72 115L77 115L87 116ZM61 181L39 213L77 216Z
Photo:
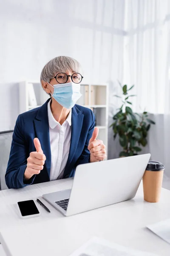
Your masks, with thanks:
M113 81L122 80L123 72L124 4L124 0L0 2L0 131L14 128L19 113L17 82L39 80L42 67L58 55L82 64L84 82L109 82L110 91L116 90ZM112 97L110 102L112 115Z

